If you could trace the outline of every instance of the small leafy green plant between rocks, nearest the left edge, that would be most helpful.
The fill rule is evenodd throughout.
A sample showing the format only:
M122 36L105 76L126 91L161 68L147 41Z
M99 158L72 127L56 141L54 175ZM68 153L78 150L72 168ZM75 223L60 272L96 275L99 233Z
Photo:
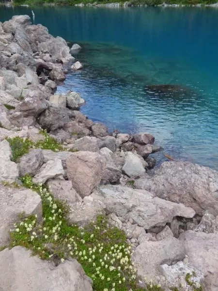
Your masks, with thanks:
M20 157L27 154L31 146L33 146L33 143L28 138L23 139L21 137L16 136L13 138L7 138L6 140L9 142L11 146L11 150L12 150L11 160L13 162L17 162L17 160Z

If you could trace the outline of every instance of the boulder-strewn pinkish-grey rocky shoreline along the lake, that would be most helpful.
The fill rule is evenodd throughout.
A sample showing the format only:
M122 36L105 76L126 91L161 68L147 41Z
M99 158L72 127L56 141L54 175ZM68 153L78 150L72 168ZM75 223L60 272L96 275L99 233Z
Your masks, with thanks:
M30 20L29 16L13 16L0 23L0 261L4 262L0 265L0 290L93 290L92 280L77 261L77 251L70 251L73 259L63 253L64 258L58 257L54 265L54 261L31 257L27 250L45 231L38 251L43 246L47 259L55 254L52 243L61 235L61 222L51 230L53 242L46 241L47 227L40 228L46 221L45 199L50 201L54 220L56 209L62 213L51 193L57 201L67 203L67 219L72 226L78 225L78 230L83 232L103 215L108 230L117 227L124 231L131 258L129 251L125 258L119 257L121 251L106 254L118 258L129 270L133 265L125 265L125 260L131 259L141 288L137 291L217 291L218 172L171 161L149 173L156 162L149 155L161 150L154 145L154 136L130 136L118 130L109 133L105 125L78 111L85 100L77 92L55 94L67 72L82 69L72 56L80 47L70 49L61 37L54 38L46 27L31 25ZM30 215L32 224L25 220L17 224L22 212ZM36 223L38 228L33 229ZM26 237L20 239L25 224L29 230L25 229ZM10 244L13 237L16 240ZM68 234L64 243L67 240ZM82 238L75 242L75 236L70 240L74 249L83 242ZM103 242L98 244L101 253ZM67 245L71 250L71 244ZM92 262L93 257L83 255ZM105 264L102 259L100 264ZM102 290L127 290L119 289L119 284L129 279L125 268L119 268L117 274L123 281L118 279ZM93 282L101 274L99 270L89 273Z

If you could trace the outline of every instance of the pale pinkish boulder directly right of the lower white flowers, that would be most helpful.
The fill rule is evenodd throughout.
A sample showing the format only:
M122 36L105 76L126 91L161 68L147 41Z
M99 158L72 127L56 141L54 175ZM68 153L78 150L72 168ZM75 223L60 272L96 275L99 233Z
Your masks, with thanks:
M156 280L160 276L160 265L171 265L185 258L183 242L168 238L161 241L144 241L140 243L133 254L137 274L147 281Z

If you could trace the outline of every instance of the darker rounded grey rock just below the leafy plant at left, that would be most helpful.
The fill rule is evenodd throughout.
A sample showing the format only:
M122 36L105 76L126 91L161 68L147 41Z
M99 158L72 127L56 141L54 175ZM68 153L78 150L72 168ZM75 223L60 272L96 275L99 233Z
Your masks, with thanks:
M20 158L18 165L19 176L25 176L26 174L34 176L38 169L43 164L43 153L41 149L31 149L28 154Z

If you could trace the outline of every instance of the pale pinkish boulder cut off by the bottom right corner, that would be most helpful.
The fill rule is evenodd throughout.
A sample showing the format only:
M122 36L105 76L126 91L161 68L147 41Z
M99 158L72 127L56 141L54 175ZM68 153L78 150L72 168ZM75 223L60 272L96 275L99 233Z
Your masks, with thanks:
M218 235L188 230L180 236L188 263L205 277L205 291L218 290Z

